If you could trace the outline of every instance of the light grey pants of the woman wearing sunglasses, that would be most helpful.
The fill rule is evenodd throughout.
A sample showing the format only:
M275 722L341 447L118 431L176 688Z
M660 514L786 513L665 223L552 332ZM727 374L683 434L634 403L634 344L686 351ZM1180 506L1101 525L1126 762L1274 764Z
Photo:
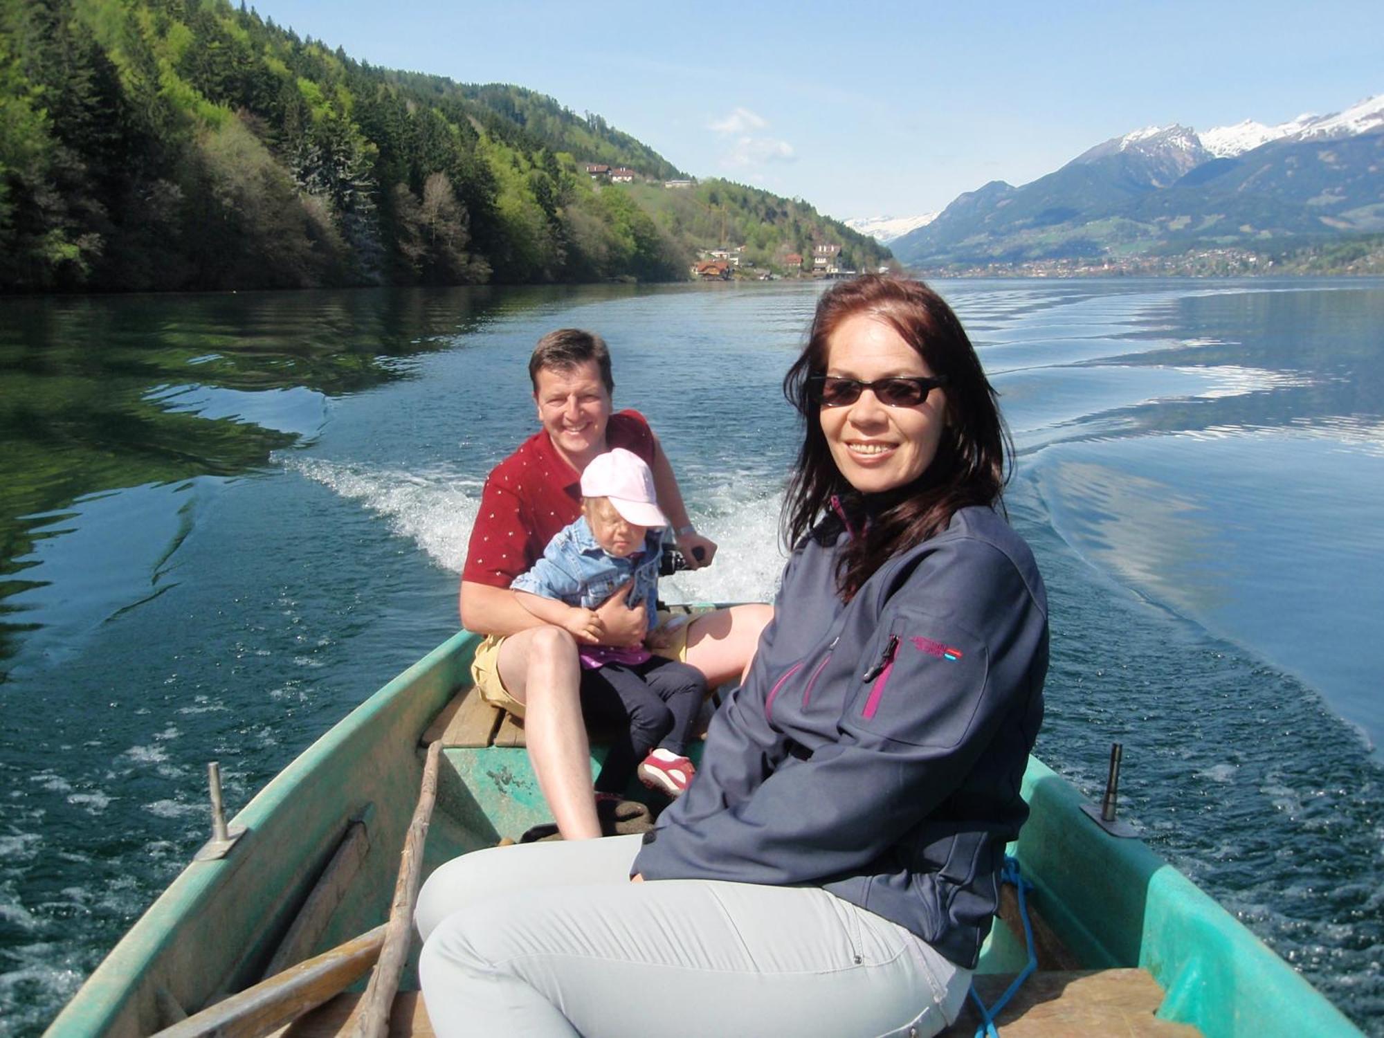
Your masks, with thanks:
M630 883L639 836L530 843L439 868L418 897L433 1030L454 1035L909 1035L970 970L817 887Z

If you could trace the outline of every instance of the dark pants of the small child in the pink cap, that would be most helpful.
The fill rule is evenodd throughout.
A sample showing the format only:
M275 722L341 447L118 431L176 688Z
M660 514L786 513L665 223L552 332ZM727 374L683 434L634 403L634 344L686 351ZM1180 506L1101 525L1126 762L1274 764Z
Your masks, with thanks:
M649 750L686 754L706 678L686 663L650 656L644 663L603 663L581 671L581 711L588 721L619 727L598 793L620 793Z

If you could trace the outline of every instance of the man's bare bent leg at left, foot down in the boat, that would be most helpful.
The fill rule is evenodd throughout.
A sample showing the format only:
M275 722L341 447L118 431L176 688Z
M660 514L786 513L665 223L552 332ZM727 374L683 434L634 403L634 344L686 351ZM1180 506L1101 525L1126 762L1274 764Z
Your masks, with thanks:
M529 760L558 830L566 840L601 836L581 720L581 664L572 635L561 627L511 634L497 664L505 691L525 704Z

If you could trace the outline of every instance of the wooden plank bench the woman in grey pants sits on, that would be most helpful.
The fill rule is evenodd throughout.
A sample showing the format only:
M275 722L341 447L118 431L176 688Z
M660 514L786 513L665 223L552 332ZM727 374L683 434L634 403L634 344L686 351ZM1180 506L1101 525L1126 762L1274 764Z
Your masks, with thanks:
M987 1002L1009 985L1008 976L976 978ZM335 1038L342 1034L358 994L336 995L325 1005L296 1020L281 1038ZM1093 972L1035 973L1014 995L996 1024L1003 1038L1194 1038L1190 1024L1158 1020L1163 988L1147 970L1111 969ZM967 1002L960 1019L943 1031L944 1038L972 1038L980 1014ZM389 1017L389 1038L432 1038L432 1021L417 991L400 991Z

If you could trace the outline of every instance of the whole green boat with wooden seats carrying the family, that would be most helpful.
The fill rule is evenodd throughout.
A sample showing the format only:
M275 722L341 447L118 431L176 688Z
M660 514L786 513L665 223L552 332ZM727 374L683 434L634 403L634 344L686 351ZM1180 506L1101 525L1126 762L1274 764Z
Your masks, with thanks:
M47 1034L252 1035L292 1014L289 1035L336 1034L360 998L336 992L379 955L425 747L443 745L425 872L548 819L523 729L471 695L476 641L447 641L274 778L233 819L245 832L230 853L188 865ZM1092 822L1037 758L1023 794L1032 814L1012 850L1034 884L1039 962L996 1020L1006 1038L1360 1034L1182 873ZM977 976L987 998L1026 962L1021 927L1001 915ZM432 1034L412 976L390 1034ZM967 1008L948 1034L976 1026Z

